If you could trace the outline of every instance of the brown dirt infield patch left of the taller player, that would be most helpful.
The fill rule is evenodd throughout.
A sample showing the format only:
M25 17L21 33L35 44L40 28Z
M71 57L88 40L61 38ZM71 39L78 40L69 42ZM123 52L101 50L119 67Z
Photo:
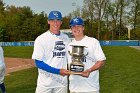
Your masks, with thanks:
M24 58L7 58L5 57L6 74L19 71L22 69L35 67L34 60Z

